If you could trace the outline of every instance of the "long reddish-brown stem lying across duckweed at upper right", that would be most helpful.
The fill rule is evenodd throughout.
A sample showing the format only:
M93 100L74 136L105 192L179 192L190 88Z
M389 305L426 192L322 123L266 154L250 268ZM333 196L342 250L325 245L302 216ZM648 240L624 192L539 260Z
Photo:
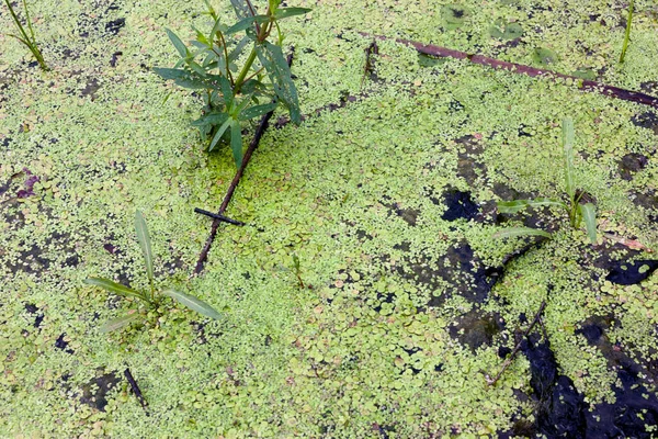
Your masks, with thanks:
M366 36L368 38L376 38L376 40L382 40L382 41L394 40L394 38L389 38L387 36L382 36L382 35L371 35L365 32L360 32L360 34L363 36ZM651 97L651 95L648 95L645 93L640 93L637 91L625 90L625 89L621 89L619 87L608 86L608 85L604 85L601 82L590 81L587 79L580 79L575 76L563 75L563 74L558 74L556 71L552 71L552 70L537 69L537 68L525 66L522 64L501 61L499 59L489 58L484 55L472 55L472 54L467 54L466 52L454 50L451 48L434 46L431 44L422 44L422 43L410 41L410 40L395 38L395 41L400 44L411 46L424 55L450 57L450 58L455 58L455 59L468 59L470 63L479 64L480 66L487 66L487 67L491 67L494 69L500 69L500 70L508 70L508 71L511 71L514 74L526 75L526 76L530 76L533 78L542 77L542 78L549 78L553 80L568 79L568 80L572 80L574 83L580 90L597 92L597 93L601 93L601 94L604 94L604 95L608 95L611 98L622 99L624 101L638 102L644 105L649 105L655 109L658 109L658 98L655 98L655 97Z

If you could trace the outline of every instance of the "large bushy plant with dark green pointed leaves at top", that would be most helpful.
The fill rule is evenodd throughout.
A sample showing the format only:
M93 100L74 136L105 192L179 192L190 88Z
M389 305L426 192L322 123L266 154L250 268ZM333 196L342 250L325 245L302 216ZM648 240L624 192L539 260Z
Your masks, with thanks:
M281 49L284 34L279 22L310 10L280 8L281 0L269 0L265 13L258 14L250 0L231 0L238 21L228 25L208 1L204 1L214 23L209 33L194 29L196 40L190 49L177 34L167 30L181 59L173 68L156 67L154 71L180 87L204 91L203 115L192 125L198 127L204 142L209 139L209 150L219 140L229 144L236 167L240 168L242 122L274 111L280 102L287 106L291 121L302 122L297 90ZM238 38L242 33L245 35ZM274 43L269 41L272 34L275 34ZM242 54L249 45L251 52L245 58ZM240 60L242 65L238 68ZM270 83L263 82L265 72Z

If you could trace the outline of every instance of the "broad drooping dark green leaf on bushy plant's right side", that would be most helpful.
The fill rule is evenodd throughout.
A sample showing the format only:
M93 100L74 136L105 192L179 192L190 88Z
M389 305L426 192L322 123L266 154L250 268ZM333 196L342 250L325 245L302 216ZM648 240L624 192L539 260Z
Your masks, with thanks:
M302 123L302 113L299 111L299 101L297 89L291 78L291 68L287 65L281 47L264 42L257 45L258 58L261 65L268 70L268 76L274 86L274 92L287 106L291 113L291 121L297 125Z

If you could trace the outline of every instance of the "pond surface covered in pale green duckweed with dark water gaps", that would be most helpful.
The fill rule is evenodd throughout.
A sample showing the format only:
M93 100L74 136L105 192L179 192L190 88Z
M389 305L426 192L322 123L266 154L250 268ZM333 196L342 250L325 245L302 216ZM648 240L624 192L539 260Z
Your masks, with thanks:
M203 2L29 2L49 71L0 34L0 436L658 435L656 110L393 40L656 97L655 2L634 2L623 65L622 2L290 5L313 9L284 30L307 116L265 131L226 210L246 225L219 227L198 275L194 209L217 211L234 157L151 68L177 61L166 27L207 26ZM561 196L565 117L595 245L551 207L496 210ZM131 305L84 279L149 288L136 211L156 286L222 319L167 302L99 330ZM513 226L552 238L491 238Z

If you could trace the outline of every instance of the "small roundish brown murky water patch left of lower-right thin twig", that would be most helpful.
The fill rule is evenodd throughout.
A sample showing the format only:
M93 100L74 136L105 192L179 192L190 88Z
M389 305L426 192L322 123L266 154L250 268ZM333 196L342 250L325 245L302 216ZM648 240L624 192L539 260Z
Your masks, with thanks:
M504 329L504 322L498 313L484 313L474 308L457 317L449 327L450 336L475 351L483 346L491 346L494 337Z

